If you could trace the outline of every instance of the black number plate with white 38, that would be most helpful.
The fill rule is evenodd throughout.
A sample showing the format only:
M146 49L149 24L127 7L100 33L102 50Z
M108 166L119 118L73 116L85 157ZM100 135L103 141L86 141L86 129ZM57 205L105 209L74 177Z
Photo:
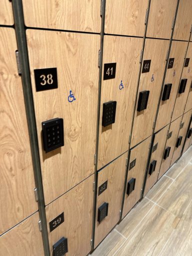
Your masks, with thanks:
M34 79L36 91L58 87L56 67L34 69Z

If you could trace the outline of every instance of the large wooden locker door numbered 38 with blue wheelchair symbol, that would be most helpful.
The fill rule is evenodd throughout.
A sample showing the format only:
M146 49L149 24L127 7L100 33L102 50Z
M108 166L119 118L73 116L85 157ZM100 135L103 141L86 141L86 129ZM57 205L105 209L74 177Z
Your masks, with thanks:
M31 29L26 34L47 204L94 172L100 36ZM57 68L58 88L36 92L33 69L48 67ZM41 122L55 117L63 118L64 146L45 153Z

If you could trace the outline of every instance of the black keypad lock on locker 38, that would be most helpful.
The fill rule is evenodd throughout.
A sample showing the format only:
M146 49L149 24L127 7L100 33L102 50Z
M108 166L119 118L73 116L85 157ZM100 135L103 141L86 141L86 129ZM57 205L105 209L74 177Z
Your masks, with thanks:
M63 119L54 118L42 122L42 137L43 147L46 153L63 146Z

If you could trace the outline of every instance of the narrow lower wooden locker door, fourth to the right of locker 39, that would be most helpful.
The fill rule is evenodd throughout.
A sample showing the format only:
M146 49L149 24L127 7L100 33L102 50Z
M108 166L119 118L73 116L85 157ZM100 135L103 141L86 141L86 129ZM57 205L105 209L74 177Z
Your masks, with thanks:
M170 167L170 162L172 159L173 151L174 151L174 146L176 144L176 139L178 135L178 131L180 128L180 123L182 120L182 116L171 122L170 128L168 131L168 136L166 140L166 145L165 149L162 155L162 162L160 165L160 171L158 175L158 179L166 172L166 170ZM166 155L166 152L169 151L169 153ZM166 159L164 159L166 158Z

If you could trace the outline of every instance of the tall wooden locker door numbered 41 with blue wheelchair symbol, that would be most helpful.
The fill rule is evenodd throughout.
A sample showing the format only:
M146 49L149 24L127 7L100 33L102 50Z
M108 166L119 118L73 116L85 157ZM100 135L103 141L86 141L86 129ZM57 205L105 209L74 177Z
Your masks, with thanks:
M141 49L142 38L104 37L98 169L128 149ZM103 104L109 101L116 101L115 121L104 126Z

